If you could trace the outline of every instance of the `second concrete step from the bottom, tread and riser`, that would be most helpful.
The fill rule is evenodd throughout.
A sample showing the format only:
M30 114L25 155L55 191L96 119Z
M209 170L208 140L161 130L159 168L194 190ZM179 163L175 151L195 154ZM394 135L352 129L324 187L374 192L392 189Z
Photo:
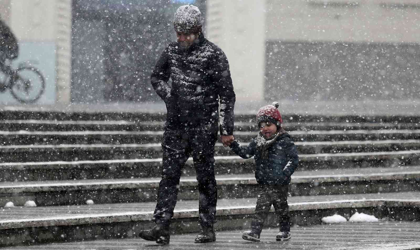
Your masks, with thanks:
M217 175L219 198L256 197L254 174ZM0 205L37 206L155 201L160 178L27 181L0 183ZM420 166L296 171L291 196L420 191ZM198 199L195 177L181 178L178 198Z

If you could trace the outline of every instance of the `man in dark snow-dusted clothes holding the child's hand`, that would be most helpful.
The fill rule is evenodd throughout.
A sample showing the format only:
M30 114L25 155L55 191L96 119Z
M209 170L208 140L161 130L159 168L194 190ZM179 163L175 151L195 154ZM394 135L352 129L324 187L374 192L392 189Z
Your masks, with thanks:
M200 14L194 5L176 10L173 26L177 41L166 47L150 77L156 93L165 101L167 119L162 142L162 180L154 213L156 226L141 231L139 236L158 244L169 244L169 224L176 205L179 178L190 154L199 189L201 231L195 242L216 240L213 230L217 202L214 145L218 121L222 144L226 147L234 140L235 93L226 55L205 39Z

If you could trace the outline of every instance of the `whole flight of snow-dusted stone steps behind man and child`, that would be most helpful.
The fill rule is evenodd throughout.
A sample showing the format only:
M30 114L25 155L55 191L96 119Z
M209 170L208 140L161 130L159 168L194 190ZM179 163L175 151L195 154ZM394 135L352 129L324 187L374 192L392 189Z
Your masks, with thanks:
M235 117L235 137L257 134ZM0 112L0 245L133 237L150 219L160 180L160 113ZM420 219L420 117L284 116L300 164L289 205L294 224L334 213ZM215 149L219 230L247 228L254 160ZM91 199L95 204L87 205ZM181 178L175 233L199 229L192 159ZM26 201L37 207L24 207ZM267 225L275 225L270 214Z

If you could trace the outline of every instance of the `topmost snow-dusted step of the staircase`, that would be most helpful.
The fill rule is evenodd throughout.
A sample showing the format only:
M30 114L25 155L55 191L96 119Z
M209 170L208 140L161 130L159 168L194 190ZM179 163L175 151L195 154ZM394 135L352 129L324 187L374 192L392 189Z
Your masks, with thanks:
M57 106L47 108L42 107L23 107L23 106L2 106L0 107L0 120L57 120L57 121L164 121L166 119L165 105L156 109L155 103L139 103L135 105L124 105L121 103L112 103L107 107L106 104L98 105L72 104L57 109ZM265 104L263 104L265 105ZM78 106L77 108L75 108ZM123 106L123 107L121 107ZM252 109L246 108L236 110L239 106L235 106L235 122L249 122L255 119L258 107ZM249 111L252 111L249 113ZM131 112L130 112L131 111ZM245 112L244 112L245 111ZM409 114L409 113L408 113ZM283 121L288 122L349 122L349 123L420 123L420 116L407 114L346 114L339 112L338 114L314 114L301 115L292 113L282 113Z

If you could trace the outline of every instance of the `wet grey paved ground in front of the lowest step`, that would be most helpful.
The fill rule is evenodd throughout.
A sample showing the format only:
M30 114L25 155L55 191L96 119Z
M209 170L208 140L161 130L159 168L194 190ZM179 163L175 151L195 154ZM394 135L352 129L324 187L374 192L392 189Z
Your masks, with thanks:
M261 242L252 243L242 240L242 232L236 230L216 231L216 242L202 244L199 249L318 249L318 250L408 250L419 249L419 222L359 222L343 224L317 224L312 226L291 227L291 240L276 242L277 227L264 228ZM243 230L242 230L243 231ZM197 232L171 235L171 243L166 249L197 249L194 239ZM4 247L4 250L150 250L158 246L140 237L125 239L84 240L80 242L60 242L50 245L30 245ZM162 247L163 248L163 247Z

